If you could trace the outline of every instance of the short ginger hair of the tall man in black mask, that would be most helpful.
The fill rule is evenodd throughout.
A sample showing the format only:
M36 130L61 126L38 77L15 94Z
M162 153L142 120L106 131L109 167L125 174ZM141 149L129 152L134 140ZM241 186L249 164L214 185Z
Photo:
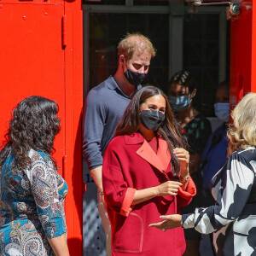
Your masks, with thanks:
M139 51L139 54L146 53L153 58L155 56L155 49L149 38L143 36L140 33L127 34L119 42L118 46L119 55L124 55L125 60L131 60L135 51Z

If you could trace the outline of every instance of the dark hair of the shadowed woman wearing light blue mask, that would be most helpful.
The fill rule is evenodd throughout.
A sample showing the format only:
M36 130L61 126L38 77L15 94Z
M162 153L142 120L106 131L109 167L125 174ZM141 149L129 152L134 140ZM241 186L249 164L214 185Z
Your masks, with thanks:
M189 71L182 70L175 73L170 80L170 87L172 84L181 84L183 86L189 87L189 92L195 89L195 80Z

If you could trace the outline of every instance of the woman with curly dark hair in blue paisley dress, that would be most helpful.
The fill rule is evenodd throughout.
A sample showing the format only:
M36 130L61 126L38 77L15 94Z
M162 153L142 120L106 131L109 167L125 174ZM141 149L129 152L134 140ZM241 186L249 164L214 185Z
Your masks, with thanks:
M30 96L13 111L0 151L0 255L69 255L67 183L51 157L58 109L56 102Z

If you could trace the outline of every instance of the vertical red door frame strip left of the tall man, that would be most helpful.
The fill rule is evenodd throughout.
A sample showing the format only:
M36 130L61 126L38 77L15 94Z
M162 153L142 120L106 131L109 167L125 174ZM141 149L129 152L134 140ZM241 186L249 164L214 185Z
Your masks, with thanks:
M71 255L83 255L83 9L79 0L65 1L64 6L67 28L64 32L67 134L63 174L70 184L66 200L68 247Z

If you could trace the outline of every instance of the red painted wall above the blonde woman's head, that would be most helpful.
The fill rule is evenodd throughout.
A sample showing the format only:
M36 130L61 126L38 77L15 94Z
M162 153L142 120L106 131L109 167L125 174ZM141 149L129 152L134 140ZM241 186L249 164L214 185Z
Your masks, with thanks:
M255 68L255 4L241 2L241 15L231 20L230 31L230 104L231 108L249 91L256 91ZM253 22L254 21L254 22ZM253 25L254 24L254 25ZM253 25L253 26L252 26ZM253 30L252 30L253 28Z

